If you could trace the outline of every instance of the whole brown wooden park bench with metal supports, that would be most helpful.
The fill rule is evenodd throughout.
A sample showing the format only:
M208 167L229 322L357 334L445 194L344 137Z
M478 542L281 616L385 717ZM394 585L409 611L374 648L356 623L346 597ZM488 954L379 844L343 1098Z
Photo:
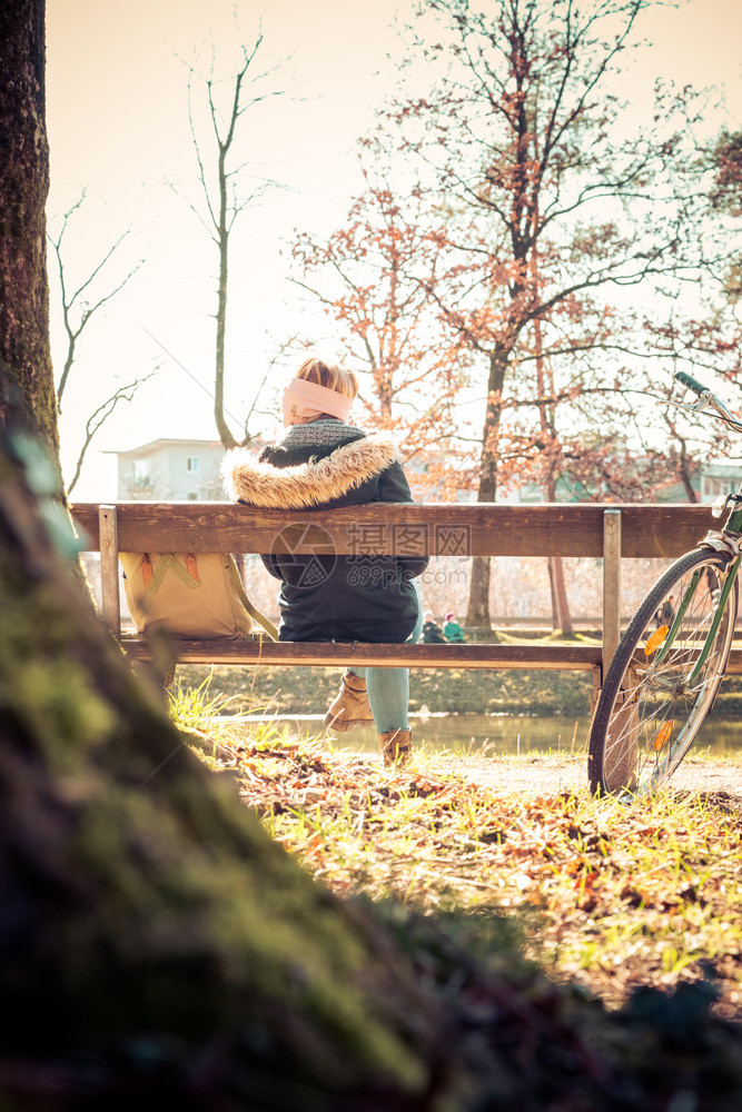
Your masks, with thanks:
M603 562L602 645L464 643L185 641L178 659L195 664L592 671L597 688L621 632L622 558L674 558L715 526L710 507L692 505L370 504L335 510L266 510L222 502L120 502L71 507L86 550L101 556L102 613L127 653L149 647L121 634L119 552L425 554L429 556L592 556ZM311 526L311 529L307 527ZM597 573L600 574L600 573ZM731 672L742 672L734 651Z

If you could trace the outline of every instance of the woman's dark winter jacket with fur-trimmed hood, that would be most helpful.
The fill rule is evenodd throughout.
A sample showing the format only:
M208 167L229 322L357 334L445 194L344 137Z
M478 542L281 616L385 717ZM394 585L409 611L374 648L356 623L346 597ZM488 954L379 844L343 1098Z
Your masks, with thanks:
M397 449L386 433L366 435L336 418L295 425L258 457L238 448L225 460L233 497L251 506L300 509L263 556L281 580L281 641L403 642L415 627L413 578L426 556L336 556L321 528L323 512L369 502L413 502ZM359 542L363 530L358 526ZM299 536L316 555L291 552ZM373 536L368 536L373 540Z

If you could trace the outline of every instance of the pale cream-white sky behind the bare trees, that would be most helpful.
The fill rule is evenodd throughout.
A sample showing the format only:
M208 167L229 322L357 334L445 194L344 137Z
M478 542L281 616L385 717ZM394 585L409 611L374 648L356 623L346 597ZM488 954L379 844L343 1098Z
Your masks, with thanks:
M117 385L160 365L156 379L119 407L95 441L73 497L115 497L112 459L101 449L160 436L216 437L210 399L194 381L208 389L212 377L216 258L202 227L168 185L197 196L184 60L200 58L207 66L205 43L211 40L221 63L240 41L234 13L246 41L261 18L260 54L267 67L280 67L274 85L286 89L246 118L243 137L255 172L285 188L247 212L234 237L227 388L228 407L239 417L293 326L300 320L317 335L326 328L318 310L314 320L307 317L287 281L291 234L297 227L329 232L342 224L360 188L355 141L395 80L387 60L399 52L395 12L412 8L412 0L48 0L50 229L85 187L85 206L68 229L70 281L87 277L127 228L97 289L108 288L106 277L116 285L131 262L145 260L80 340L62 417L68 475L91 409ZM739 127L742 2L691 0L651 12L641 26L654 42L641 71L645 83L656 76L696 87L723 83L730 125ZM50 258L50 272L52 267ZM51 296L52 348L61 365L53 280Z

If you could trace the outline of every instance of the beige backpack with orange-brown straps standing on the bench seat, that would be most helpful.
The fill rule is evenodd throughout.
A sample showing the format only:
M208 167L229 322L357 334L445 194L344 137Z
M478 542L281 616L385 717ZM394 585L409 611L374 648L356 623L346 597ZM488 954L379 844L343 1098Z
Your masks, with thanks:
M179 637L260 637L278 631L245 594L226 553L119 553L123 593L140 634L166 628ZM263 627L256 631L254 623Z

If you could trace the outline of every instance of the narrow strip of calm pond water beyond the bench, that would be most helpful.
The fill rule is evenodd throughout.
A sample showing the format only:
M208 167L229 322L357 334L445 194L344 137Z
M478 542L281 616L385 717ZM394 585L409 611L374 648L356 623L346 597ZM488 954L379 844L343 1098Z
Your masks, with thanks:
M324 716L239 715L240 722L285 722L305 735L323 735ZM471 753L479 756L493 753L527 753L557 749L566 753L585 753L590 721L570 717L536 717L528 715L488 714L431 714L410 715L409 725L416 738L425 741L439 751ZM376 734L364 727L347 734L330 731L335 749L353 748L374 753L377 749ZM722 754L742 751L742 717L739 719L714 718L703 724L694 743L694 748L712 748Z

